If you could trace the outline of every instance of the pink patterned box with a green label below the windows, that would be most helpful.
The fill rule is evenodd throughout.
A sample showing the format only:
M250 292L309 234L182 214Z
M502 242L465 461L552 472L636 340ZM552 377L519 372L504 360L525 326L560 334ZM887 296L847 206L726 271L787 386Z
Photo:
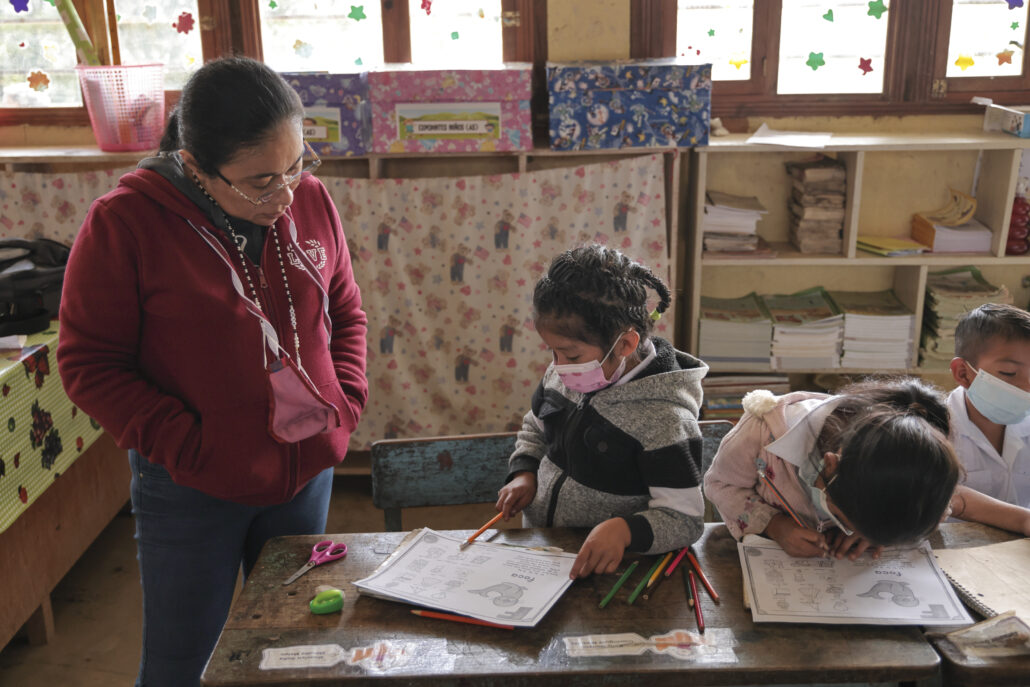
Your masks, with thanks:
M533 65L369 72L375 152L533 148Z

